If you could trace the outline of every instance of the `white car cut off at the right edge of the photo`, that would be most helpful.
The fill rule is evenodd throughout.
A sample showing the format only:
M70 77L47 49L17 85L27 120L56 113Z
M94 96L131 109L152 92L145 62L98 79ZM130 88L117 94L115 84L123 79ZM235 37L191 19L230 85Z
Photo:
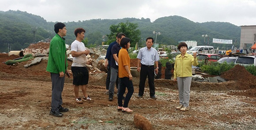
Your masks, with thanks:
M239 56L235 63L241 66L256 66L256 56Z

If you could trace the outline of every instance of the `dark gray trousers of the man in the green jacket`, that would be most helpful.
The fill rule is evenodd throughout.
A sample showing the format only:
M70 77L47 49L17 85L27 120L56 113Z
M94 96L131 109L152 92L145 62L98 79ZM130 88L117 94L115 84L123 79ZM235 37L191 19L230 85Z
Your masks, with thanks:
M51 73L52 78L52 109L51 111L59 111L62 105L61 93L64 88L65 76L60 78L60 74Z

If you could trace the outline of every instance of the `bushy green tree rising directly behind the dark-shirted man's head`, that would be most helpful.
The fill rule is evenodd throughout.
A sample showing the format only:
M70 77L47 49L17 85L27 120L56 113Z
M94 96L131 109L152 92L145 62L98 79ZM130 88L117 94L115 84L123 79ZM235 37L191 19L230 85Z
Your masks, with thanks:
M124 33L126 37L131 39L131 46L135 46L136 42L139 42L141 32L138 28L137 23L132 22L120 22L118 25L111 25L109 27L110 34L107 35L107 45L116 40L117 33Z

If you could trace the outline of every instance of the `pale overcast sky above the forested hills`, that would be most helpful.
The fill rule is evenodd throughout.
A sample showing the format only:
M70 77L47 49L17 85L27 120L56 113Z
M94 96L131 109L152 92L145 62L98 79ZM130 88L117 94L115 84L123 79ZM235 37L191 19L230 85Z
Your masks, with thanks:
M26 11L47 22L142 17L153 22L178 15L200 23L256 25L256 0L0 0L0 11L8 10Z

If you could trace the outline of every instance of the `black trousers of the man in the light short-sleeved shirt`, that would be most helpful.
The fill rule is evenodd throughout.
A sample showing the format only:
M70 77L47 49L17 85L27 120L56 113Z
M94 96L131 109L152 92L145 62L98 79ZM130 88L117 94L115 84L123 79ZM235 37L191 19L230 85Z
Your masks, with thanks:
M139 96L143 96L145 89L145 82L148 78L148 85L150 96L154 96L154 65L153 66L145 66L141 64L140 67L140 78L139 78Z

